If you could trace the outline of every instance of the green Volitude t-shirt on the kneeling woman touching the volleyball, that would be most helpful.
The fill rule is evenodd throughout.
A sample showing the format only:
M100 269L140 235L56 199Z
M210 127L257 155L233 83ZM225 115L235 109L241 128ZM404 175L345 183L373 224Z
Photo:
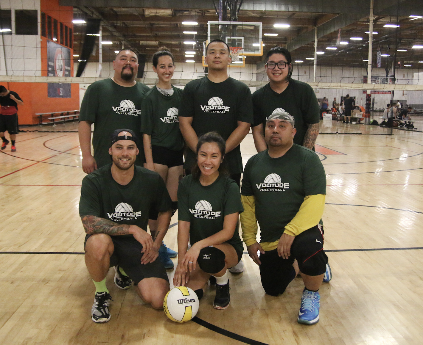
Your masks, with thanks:
M243 212L239 187L229 177L220 175L209 186L188 175L178 187L178 220L190 222L191 245L223 229L225 215ZM239 226L227 241L238 252L243 251Z

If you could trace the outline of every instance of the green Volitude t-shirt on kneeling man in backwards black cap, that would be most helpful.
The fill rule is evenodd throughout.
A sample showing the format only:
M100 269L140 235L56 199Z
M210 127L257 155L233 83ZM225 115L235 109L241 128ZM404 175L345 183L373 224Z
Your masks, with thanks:
M156 172L135 166L134 177L123 186L113 179L111 167L103 166L82 179L80 216L134 224L147 231L150 208L165 212L171 207L165 182Z

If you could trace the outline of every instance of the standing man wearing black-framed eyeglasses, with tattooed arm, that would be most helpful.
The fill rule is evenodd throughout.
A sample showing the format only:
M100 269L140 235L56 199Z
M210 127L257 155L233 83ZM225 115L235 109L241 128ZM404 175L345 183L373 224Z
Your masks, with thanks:
M266 54L269 84L253 93L253 138L257 152L267 149L264 140L266 120L275 112L286 111L295 119L294 143L312 149L319 134L319 104L310 85L291 79L291 54L274 47Z

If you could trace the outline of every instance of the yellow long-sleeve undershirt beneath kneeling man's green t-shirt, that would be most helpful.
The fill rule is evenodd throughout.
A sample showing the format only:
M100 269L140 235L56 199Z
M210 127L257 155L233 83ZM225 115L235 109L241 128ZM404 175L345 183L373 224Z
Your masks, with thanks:
M295 217L285 226L285 234L297 236L303 231L316 226L323 215L326 196L316 194L306 196ZM257 239L257 220L255 217L255 197L241 195L244 212L241 213L242 238L247 246L254 244ZM279 239L275 242L261 242L264 250L274 250Z

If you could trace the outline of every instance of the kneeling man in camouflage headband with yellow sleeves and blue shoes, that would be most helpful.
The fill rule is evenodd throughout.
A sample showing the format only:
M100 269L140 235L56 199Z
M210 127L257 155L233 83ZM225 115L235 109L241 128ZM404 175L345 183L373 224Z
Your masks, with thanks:
M286 112L270 115L264 133L269 149L251 157L245 166L242 237L248 254L260 265L261 283L269 295L285 291L298 273L292 266L297 259L305 285L297 320L313 324L319 321L318 290L328 261L319 224L326 176L316 153L294 144L294 124Z

